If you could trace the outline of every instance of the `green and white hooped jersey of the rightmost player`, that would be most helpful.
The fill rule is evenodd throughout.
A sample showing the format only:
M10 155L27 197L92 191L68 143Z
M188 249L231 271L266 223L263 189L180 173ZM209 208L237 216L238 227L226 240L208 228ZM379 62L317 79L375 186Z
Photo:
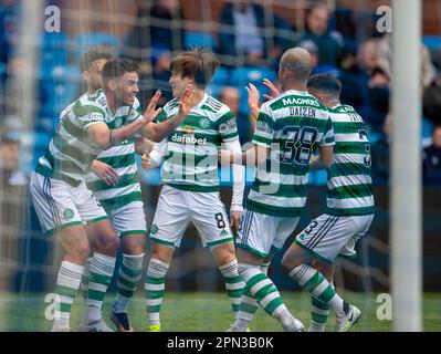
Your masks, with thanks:
M328 174L326 214L364 216L372 214L374 194L370 174L370 145L367 127L349 105L329 110L335 146L334 164Z

